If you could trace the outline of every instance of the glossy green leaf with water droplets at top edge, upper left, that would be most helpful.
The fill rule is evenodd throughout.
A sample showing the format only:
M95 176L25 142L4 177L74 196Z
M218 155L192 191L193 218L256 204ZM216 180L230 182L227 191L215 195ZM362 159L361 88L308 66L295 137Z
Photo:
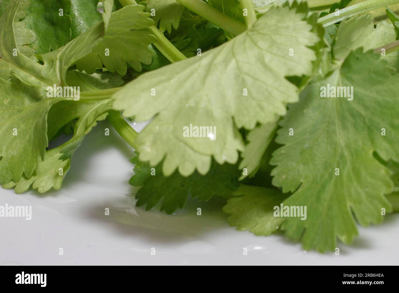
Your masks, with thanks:
M71 39L84 33L88 28L101 21L101 13L97 11L98 0L71 0Z

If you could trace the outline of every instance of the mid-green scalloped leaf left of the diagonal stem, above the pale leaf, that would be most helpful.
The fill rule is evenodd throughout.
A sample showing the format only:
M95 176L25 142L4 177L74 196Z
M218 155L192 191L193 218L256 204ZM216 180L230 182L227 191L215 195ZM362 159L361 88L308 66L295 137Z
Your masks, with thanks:
M148 45L156 41L148 28L154 22L143 12L144 6L130 5L117 10L111 16L104 39L93 49L93 53L80 59L77 69L94 73L103 63L108 71L125 75L128 63L136 71L142 70L141 63L150 64L153 53Z

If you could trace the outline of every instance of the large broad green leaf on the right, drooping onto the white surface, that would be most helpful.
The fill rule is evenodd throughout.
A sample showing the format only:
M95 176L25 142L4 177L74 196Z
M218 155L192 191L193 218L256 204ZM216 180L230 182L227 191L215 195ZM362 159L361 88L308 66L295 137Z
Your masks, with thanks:
M367 226L381 222L381 208L391 212L384 195L393 182L373 152L399 161L398 77L373 51L359 48L324 81L309 85L280 123L276 142L284 146L271 159L273 185L294 192L284 205L307 206L306 221L284 222L286 236L302 237L304 249L334 250L336 237L348 244L357 235L354 218ZM353 100L321 97L328 85L353 87Z

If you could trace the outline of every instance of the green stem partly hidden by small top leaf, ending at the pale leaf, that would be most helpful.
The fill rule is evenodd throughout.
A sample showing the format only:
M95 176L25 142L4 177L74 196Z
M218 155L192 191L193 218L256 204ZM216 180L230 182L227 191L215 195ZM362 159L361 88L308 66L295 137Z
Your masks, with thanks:
M134 0L119 0L122 6L137 5ZM154 46L172 63L186 59L186 56L164 36L164 34L156 27L150 26L150 31L157 38Z

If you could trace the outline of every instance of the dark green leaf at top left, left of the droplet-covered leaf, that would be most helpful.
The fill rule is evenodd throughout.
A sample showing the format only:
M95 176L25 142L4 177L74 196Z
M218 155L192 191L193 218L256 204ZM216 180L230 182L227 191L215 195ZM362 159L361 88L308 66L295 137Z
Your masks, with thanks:
M69 0L30 0L30 2L23 22L27 29L31 29L37 35L31 47L36 53L43 54L65 45L71 36L71 17L67 14L71 2Z

